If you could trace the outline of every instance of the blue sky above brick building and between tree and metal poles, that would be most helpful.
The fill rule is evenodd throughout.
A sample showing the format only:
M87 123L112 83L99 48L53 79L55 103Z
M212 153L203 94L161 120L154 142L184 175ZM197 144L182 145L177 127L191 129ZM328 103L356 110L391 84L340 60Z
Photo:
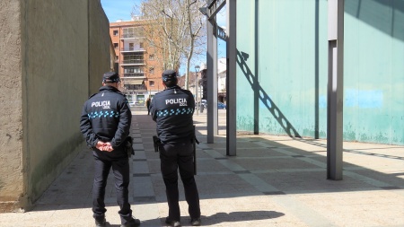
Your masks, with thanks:
M135 5L140 5L142 0L101 0L102 8L105 14L108 17L110 22L117 22L118 20L122 21L130 21L131 13L134 9ZM225 6L224 9L221 10L220 13L217 13L216 22L221 27L226 27L226 13ZM225 42L221 39L217 41L217 54L218 58L225 57ZM202 63L206 63L206 58L202 57L201 60L198 60ZM194 67L191 66L189 68L192 71ZM180 74L184 74L185 69L184 65L181 65Z

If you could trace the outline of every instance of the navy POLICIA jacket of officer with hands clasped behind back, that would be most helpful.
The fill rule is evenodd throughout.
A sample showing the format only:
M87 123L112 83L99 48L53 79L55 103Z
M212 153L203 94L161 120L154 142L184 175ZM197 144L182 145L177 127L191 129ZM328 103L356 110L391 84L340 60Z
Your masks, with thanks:
M102 86L84 103L80 130L89 147L98 141L110 142L114 150L122 150L130 132L132 113L127 98L112 86Z

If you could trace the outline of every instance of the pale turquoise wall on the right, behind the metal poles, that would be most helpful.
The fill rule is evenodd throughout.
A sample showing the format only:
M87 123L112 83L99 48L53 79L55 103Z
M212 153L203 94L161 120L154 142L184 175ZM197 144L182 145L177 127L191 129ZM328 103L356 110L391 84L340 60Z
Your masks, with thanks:
M345 3L344 140L404 144L404 1ZM328 1L237 4L238 130L325 138Z

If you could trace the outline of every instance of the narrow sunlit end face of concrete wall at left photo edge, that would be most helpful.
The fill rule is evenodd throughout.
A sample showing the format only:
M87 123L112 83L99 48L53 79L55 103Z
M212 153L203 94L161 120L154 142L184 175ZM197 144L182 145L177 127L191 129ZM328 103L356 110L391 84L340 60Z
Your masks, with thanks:
M0 212L23 194L20 3L0 1Z

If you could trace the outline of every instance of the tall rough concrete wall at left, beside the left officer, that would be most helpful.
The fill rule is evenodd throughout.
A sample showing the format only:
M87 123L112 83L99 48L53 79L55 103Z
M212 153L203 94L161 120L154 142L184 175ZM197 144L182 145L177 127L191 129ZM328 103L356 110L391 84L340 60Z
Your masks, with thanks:
M0 198L8 205L3 211L30 209L83 149L83 102L110 69L109 22L100 1L10 2L16 3L0 5L11 12L11 19L1 13L7 18L0 20L2 26L12 28L5 38L0 35L10 40L11 47L5 49L11 54L4 58L12 61L5 65L8 73L2 67L0 75L2 81L11 72L15 78L7 93L1 90L0 99L16 100L7 104L10 108L1 118L10 126L2 127L1 142L7 144L1 148L0 166L12 164L0 169Z

